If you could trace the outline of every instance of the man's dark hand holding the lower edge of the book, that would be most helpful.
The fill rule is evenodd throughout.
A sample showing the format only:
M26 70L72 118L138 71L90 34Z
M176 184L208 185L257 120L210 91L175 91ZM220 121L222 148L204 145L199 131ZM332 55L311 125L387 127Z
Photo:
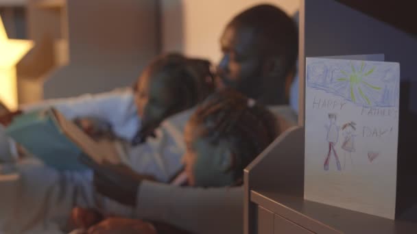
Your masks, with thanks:
M97 164L84 156L82 162L94 170L94 186L97 192L124 205L136 206L139 185L143 180L154 180L149 175L138 174L124 165Z

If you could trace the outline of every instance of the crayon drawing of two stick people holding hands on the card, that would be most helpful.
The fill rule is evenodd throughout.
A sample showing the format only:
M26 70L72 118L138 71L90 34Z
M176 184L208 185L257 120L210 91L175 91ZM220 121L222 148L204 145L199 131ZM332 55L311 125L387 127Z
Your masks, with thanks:
M329 170L329 162L331 159L331 155L333 153L337 170L342 170L342 166L340 164L339 156L337 156L337 152L335 150L335 145L339 141L339 131L340 127L336 125L336 114L329 114L330 125L326 125L327 129L327 142L329 142L329 153L327 153L326 158L324 159L324 170ZM342 131L344 131L344 141L342 143L342 149L344 150L344 164L343 169L346 168L346 155L349 155L350 158L350 165L353 166L353 159L352 153L355 152L355 136L353 133L356 130L356 123L355 122L347 122L342 126Z

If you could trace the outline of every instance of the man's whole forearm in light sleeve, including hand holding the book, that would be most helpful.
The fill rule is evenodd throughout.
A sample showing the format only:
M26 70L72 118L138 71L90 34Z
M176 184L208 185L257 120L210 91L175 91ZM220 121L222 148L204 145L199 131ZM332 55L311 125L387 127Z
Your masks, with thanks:
M178 187L88 161L84 162L95 170L97 192L135 207L129 218L163 222L191 233L242 233L243 187ZM110 213L119 213L110 209L106 207Z

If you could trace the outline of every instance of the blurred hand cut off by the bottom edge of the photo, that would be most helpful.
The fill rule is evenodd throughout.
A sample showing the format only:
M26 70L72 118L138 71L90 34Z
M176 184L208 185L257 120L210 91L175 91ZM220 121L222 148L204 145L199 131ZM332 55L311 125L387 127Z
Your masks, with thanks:
M128 218L108 218L88 229L88 234L156 234L156 229L149 222Z

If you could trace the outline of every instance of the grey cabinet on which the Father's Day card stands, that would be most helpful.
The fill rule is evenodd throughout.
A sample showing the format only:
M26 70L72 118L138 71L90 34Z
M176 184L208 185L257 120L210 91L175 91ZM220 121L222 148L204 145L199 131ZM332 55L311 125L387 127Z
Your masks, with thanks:
M346 3L346 5L345 5ZM288 129L245 170L244 233L417 233L417 37L412 1L303 0L300 7L300 127ZM396 4L396 3L395 3ZM373 8L368 8L369 6ZM379 5L384 7L378 8ZM376 18L374 18L376 17ZM398 21L392 22L396 18ZM411 21L403 20L411 18ZM383 53L401 64L396 220L304 200L305 58ZM272 224L271 220L274 220ZM271 231L274 230L274 232ZM265 232L264 232L265 231Z

